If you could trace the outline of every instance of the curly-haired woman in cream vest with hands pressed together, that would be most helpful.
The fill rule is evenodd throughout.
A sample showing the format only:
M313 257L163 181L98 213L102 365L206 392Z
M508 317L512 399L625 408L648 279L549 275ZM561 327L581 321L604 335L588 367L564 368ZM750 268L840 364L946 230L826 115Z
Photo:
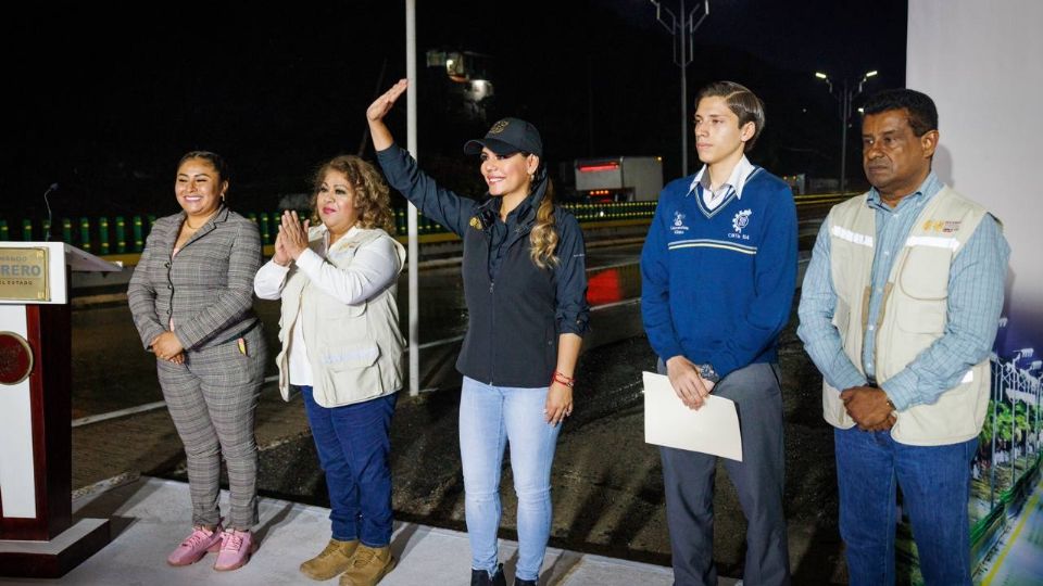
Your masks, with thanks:
M388 187L372 165L338 156L315 175L310 227L282 215L275 255L254 279L282 300L276 359L284 398L300 388L329 488L332 535L301 564L314 579L376 584L391 557L391 415L402 386L395 284L405 262Z

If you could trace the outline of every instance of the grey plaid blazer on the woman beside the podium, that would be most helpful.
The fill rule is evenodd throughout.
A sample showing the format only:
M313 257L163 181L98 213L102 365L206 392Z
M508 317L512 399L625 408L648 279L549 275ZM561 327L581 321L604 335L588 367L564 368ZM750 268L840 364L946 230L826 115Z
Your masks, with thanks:
M186 351L230 342L257 324L253 276L261 267L256 225L222 206L177 256L185 214L160 218L134 269L127 300L146 349L169 329Z

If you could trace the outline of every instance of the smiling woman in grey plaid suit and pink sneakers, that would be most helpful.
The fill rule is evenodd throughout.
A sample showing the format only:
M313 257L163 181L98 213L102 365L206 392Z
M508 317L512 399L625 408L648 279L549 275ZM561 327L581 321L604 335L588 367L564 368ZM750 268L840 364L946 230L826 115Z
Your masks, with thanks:
M216 551L215 570L235 570L256 549L253 417L267 359L252 309L261 237L225 206L227 191L219 155L183 156L174 184L183 212L153 225L127 290L188 459L193 530L167 563L187 565ZM225 523L217 507L222 456L230 493Z

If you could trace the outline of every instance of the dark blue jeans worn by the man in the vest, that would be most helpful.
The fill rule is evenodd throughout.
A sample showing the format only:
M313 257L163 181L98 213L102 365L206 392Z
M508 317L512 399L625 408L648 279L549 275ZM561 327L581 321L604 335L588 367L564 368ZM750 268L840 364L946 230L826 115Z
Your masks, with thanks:
M970 586L970 462L978 438L910 446L890 432L834 430L840 535L852 586L894 584L895 487L928 586Z

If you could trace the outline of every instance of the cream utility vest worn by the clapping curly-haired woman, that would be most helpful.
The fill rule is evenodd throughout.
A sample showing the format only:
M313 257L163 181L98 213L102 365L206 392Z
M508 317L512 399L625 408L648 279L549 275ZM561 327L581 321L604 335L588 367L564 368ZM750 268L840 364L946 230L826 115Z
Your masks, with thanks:
M309 230L309 247L321 252L325 234L323 226ZM327 251L326 260L345 268L359 249L381 238L394 242L401 272L405 249L380 229L359 229L341 238ZM297 267L291 268L282 288L279 319L282 351L276 357L282 398L289 399L289 351L293 328L304 328L313 396L323 407L361 403L401 388L405 340L399 331L397 289L397 283L391 283L369 300L347 305L315 286Z

